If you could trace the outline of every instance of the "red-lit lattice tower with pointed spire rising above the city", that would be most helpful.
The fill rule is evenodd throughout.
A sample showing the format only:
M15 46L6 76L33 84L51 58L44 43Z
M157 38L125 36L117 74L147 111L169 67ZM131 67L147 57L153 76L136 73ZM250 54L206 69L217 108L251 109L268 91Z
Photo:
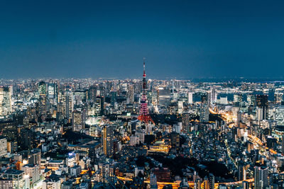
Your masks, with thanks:
M138 120L140 120L141 122L148 123L149 121L153 122L153 120L149 115L146 90L147 90L147 81L146 81L145 60L144 60L144 62L143 62L142 96L141 96L141 101L140 101L140 113L139 113L139 116L138 116ZM154 124L154 122L153 122L153 124Z

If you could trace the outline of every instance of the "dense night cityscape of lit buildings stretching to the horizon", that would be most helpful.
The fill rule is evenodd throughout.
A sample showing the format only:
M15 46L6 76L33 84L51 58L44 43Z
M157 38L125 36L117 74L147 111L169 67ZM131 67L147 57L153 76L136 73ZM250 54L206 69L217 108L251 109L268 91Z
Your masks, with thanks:
M0 187L284 187L283 81L156 80L146 68L1 79Z

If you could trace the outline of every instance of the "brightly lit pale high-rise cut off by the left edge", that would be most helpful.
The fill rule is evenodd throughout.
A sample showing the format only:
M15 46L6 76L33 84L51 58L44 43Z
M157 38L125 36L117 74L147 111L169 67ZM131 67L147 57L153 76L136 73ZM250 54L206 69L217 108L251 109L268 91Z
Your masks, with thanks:
M11 112L11 88L0 86L0 116L10 115Z

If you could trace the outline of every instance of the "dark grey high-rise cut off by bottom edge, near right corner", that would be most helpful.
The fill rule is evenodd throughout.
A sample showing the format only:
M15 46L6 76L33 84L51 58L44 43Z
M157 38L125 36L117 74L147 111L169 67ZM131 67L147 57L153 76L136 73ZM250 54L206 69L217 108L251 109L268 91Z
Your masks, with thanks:
M268 174L269 172L266 166L255 166L254 167L254 187L255 188L269 187Z

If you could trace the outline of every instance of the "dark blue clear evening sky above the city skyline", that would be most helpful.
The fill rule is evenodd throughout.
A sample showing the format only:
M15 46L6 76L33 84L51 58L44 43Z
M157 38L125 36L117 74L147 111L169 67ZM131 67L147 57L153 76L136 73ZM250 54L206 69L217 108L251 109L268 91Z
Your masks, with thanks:
M1 1L0 78L280 77L284 1Z

